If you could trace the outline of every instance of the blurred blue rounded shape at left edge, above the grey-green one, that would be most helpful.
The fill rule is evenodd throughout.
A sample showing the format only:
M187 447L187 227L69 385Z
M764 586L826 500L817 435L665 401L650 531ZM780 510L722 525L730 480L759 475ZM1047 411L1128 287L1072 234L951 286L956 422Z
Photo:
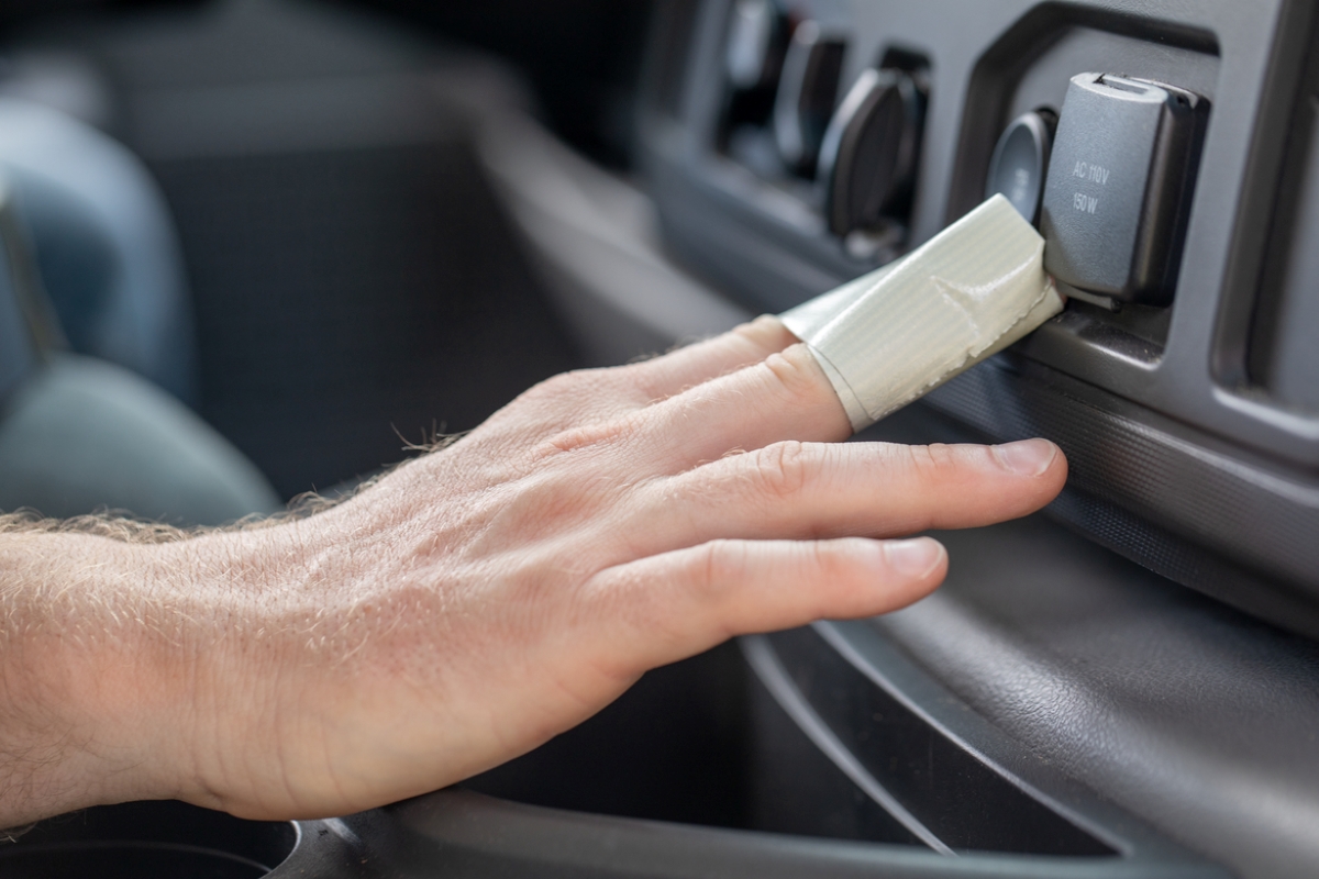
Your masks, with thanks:
M58 109L0 98L0 167L70 347L194 402L183 261L141 162Z

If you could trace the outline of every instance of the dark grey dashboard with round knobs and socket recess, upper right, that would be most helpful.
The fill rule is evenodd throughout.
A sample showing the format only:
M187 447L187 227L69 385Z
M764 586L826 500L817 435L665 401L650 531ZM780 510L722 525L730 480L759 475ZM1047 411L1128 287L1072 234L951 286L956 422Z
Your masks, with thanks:
M801 41L778 37L786 47L776 50L765 40L764 66L778 67L765 74L769 84L729 82L731 54L744 51L729 45L743 38L739 22L769 7L686 11L690 55L677 71L656 65L641 144L674 252L751 308L781 311L918 246L975 207L991 174L1006 173L992 159L1009 125L1033 119L1046 141L1057 127L1063 142L1042 142L1029 169L1008 170L1038 178L1031 219L1042 224L1046 258L1060 261L1070 248L1095 277L1047 265L1078 282L1063 286L1072 297L1067 312L1012 358L940 389L930 405L984 435L1043 430L1060 438L1074 463L1060 515L1167 577L1316 631L1303 621L1315 613L1319 559L1303 535L1319 525L1319 410L1310 397L1315 364L1299 341L1301 303L1314 289L1304 254L1315 231L1298 221L1297 207L1316 174L1308 170L1308 11L1199 4L1178 17L1141 4L822 3L757 12L777 33L813 22L809 30L827 34L813 36L816 55L826 45L838 54L836 70L822 75L828 82L816 76L810 87L828 112L806 123L810 108L766 99L754 105L757 90L781 94L782 80L801 74L794 51L811 51ZM671 63L673 50L660 54ZM1153 159L1113 128L1128 123L1068 94L1087 72L1162 83L1199 101L1194 156L1181 148L1170 163L1178 179L1142 186ZM886 129L892 142L872 134L876 142L861 148L885 169L871 171L878 181L839 182L867 159L852 158L839 173L839 142L826 142L830 116L847 121L847 101L867 76L893 80L885 88L894 109L871 111L884 117L872 128ZM910 92L905 108L897 83ZM813 125L823 157L793 166L783 154L799 148L785 150L783 130ZM1112 142L1101 144L1101 134ZM1070 153L1045 186L1050 146ZM1117 162L1119 177L1107 187L1091 182L1105 190L1099 215L1092 204L1084 227L1070 231L1060 220L1076 216L1072 199L1084 198L1071 183L1088 167L1086 150L1112 156L1103 161ZM1117 191L1128 167L1141 192ZM848 210L831 190L848 186L874 188L874 206L868 215L852 208L859 216L830 216ZM1129 207L1119 204L1124 198ZM1093 245L1088 253L1079 252L1082 240ZM1153 254L1153 245L1170 252ZM1113 266L1096 262L1108 254ZM1122 290L1111 279L1137 265L1167 273L1159 290L1149 281ZM1097 277L1104 271L1108 278Z

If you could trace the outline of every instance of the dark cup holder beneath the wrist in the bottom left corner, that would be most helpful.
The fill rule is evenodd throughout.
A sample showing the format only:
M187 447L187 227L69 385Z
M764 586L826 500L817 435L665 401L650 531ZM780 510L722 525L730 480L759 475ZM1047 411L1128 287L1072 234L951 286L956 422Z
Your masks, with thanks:
M289 821L244 821L185 803L125 803L49 818L0 846L0 876L256 879L298 843Z

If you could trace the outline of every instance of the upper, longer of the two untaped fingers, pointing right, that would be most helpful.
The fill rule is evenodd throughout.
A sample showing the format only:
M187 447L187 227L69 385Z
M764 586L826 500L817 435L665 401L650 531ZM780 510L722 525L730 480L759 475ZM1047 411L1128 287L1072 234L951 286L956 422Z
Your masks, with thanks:
M1033 513L1067 463L1034 439L1006 445L778 443L640 484L616 514L629 546L663 552L716 538L893 538Z

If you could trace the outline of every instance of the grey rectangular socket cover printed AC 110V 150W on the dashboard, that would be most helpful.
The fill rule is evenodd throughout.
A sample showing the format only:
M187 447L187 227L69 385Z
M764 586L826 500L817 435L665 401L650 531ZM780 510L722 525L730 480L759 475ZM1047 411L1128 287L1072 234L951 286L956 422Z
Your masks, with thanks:
M1058 281L1125 302L1173 299L1208 101L1162 83L1072 76L1041 232Z

